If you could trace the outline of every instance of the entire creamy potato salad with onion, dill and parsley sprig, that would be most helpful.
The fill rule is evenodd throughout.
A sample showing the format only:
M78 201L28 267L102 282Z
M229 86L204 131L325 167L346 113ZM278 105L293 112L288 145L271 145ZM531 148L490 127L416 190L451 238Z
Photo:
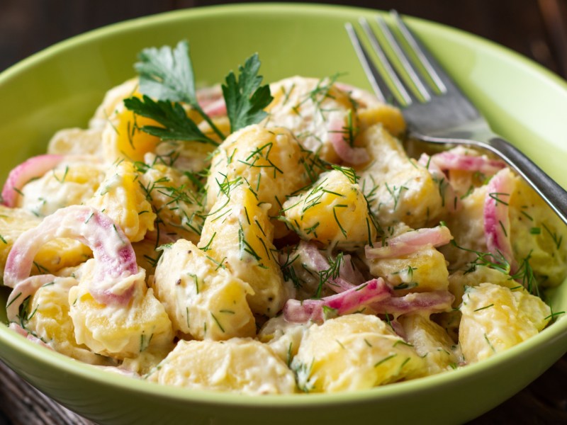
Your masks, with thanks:
M252 55L197 87L148 48L0 205L7 325L97 368L245 395L466 367L561 312L567 229L500 159L412 152L402 113Z

